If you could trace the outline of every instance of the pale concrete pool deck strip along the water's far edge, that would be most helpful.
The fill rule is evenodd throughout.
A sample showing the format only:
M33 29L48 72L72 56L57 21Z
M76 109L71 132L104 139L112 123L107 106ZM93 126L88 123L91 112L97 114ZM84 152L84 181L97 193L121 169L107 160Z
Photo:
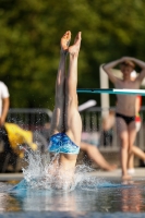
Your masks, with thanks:
M104 179L120 179L121 178L121 169L113 170L111 172L102 171L102 170L94 170L89 172L92 175L96 175L98 178ZM132 177L133 179L144 179L145 180L145 168L135 168L135 173ZM0 181L12 181L12 180L22 180L23 173L0 173Z

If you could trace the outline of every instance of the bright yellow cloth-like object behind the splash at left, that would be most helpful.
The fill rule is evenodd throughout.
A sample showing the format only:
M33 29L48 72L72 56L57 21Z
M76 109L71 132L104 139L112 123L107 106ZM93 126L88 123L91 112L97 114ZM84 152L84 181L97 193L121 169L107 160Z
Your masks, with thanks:
M8 138L12 149L23 157L24 152L20 149L20 145L27 144L33 150L37 149L37 145L33 143L33 132L26 131L14 123L4 123L8 132Z

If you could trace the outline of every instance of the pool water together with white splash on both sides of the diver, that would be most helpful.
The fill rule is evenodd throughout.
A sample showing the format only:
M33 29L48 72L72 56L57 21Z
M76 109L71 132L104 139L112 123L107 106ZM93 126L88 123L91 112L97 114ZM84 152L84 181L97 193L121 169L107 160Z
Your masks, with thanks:
M89 167L77 166L74 185L56 189L53 178L49 177L49 183L44 180L48 164L43 161L39 154L29 156L24 180L0 182L0 218L145 217L145 178L130 182L100 179Z

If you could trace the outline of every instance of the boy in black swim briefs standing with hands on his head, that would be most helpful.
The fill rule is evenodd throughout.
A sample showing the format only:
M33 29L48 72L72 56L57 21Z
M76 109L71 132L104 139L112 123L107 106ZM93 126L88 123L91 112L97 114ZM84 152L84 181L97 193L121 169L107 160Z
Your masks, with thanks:
M116 77L112 73L112 68L120 64L123 78ZM141 68L140 75L132 81L131 72L134 70L135 64ZM145 77L145 62L131 58L123 57L110 63L104 65L105 72L108 74L110 81L113 83L116 88L130 88L137 89ZM135 128L135 99L134 95L117 95L117 107L116 107L116 120L117 131L120 138L121 149L121 168L122 179L130 179L128 173L128 162L132 155L132 147L136 137Z

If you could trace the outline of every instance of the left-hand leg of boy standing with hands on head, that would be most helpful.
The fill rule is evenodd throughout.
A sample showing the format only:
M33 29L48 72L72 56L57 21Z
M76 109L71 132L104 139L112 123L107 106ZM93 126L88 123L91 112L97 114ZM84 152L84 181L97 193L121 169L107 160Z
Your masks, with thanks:
M120 140L120 159L122 169L122 179L130 179L128 173L128 158L129 158L129 133L125 121L122 118L117 118L117 133Z

